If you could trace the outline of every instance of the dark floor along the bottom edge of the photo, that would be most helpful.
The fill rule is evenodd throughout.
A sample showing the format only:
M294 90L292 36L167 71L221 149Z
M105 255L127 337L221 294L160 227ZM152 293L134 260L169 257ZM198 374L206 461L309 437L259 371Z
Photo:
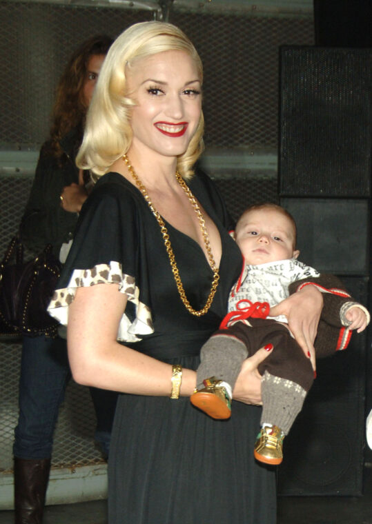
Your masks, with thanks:
M0 512L0 524L13 521L13 512ZM372 464L364 468L363 496L279 497L277 524L299 523L372 524ZM48 506L43 524L107 524L106 501Z

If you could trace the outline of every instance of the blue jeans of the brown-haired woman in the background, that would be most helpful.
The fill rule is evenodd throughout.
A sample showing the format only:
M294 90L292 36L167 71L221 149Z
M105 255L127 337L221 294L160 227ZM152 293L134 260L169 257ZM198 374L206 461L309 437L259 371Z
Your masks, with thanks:
M23 338L14 456L50 458L58 410L70 378L66 340ZM90 392L97 415L95 439L108 456L117 393L96 388L90 388Z

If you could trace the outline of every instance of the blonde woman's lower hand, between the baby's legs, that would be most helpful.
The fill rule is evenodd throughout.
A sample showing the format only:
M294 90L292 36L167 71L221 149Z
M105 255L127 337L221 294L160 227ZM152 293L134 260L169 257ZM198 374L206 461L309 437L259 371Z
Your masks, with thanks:
M262 347L257 353L243 362L233 391L233 399L235 401L244 402L244 404L262 405L262 376L257 368L266 359L266 356L271 353L273 346L269 344L266 348Z

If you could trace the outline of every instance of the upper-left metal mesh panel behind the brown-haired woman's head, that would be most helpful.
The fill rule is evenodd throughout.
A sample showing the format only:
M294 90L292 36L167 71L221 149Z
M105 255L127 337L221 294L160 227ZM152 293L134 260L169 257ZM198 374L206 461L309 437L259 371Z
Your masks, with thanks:
M115 38L127 26L152 17L150 11L0 3L0 142L43 143L55 86L79 43L93 34Z

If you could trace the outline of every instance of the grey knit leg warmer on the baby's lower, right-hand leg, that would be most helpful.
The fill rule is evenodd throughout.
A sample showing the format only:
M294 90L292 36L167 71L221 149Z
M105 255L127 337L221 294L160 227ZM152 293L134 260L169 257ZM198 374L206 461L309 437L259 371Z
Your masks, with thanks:
M299 384L265 371L262 376L261 425L273 424L288 434L302 409L305 396L306 391Z

